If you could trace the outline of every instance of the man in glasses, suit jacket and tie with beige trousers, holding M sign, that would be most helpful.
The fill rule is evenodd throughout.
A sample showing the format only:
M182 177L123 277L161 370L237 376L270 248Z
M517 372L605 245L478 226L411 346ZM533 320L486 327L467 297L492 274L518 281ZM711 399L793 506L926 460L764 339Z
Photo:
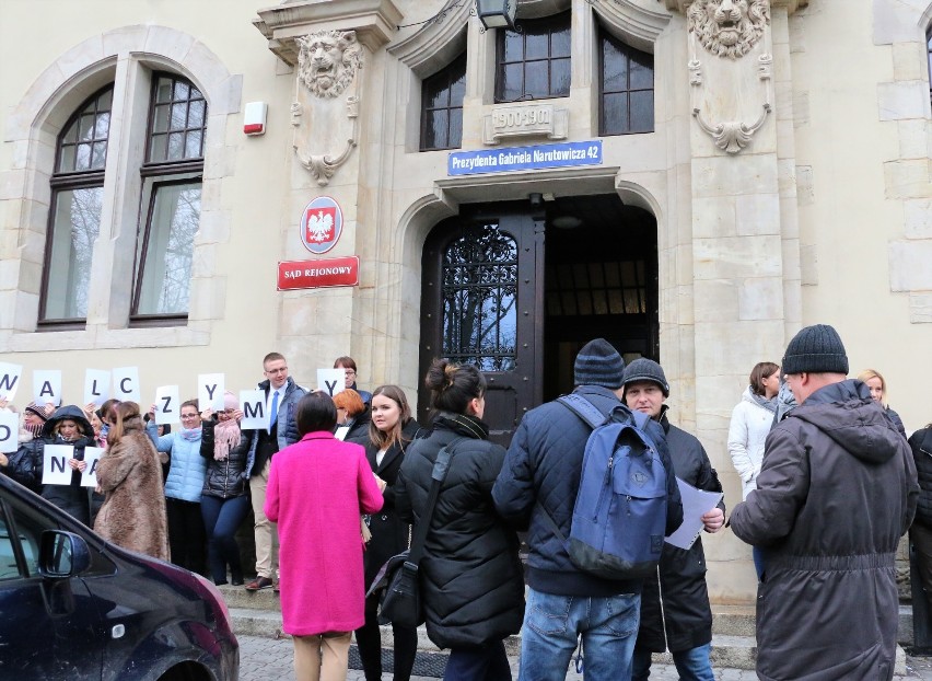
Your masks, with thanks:
M263 358L263 373L266 380L258 388L266 395L269 427L249 431L249 453L246 459L256 536L256 578L246 585L247 591L268 589L275 585L272 577L276 575L273 557L277 532L263 510L266 486L272 457L294 441L288 437L290 424L294 422L294 405L306 394L288 376L288 362L279 353L269 353Z

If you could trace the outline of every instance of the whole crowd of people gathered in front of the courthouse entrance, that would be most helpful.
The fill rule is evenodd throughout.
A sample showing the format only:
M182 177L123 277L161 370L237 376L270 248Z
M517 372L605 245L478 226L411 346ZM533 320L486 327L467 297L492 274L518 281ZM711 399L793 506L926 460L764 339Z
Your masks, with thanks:
M451 651L448 681L510 680L503 640L519 632L520 680L564 679L574 654L587 680L644 680L652 654L667 649L681 679L714 679L701 536L686 547L664 543L648 578L606 578L571 557L566 538L593 429L566 403L531 409L505 450L488 439L476 367L432 363L428 424L397 385L361 390L352 358L334 368L346 389L330 397L298 385L282 355L267 355L259 389L269 425L257 430L240 428L231 393L218 412L185 402L174 431L155 424L154 407L143 415L132 402L30 403L20 448L0 454L0 470L117 545L218 585L280 592L301 681L345 679L353 634L366 681L382 679L380 597L365 593L422 521L423 621ZM870 369L849 380L831 326L803 328L781 363L750 371L727 434L742 483L727 523L706 449L671 423L661 365L626 366L597 338L573 371L574 395L606 418L646 417L666 475L667 535L684 520L679 478L721 499L698 519L706 533L731 527L752 545L761 679L892 678L894 558L910 527L932 604L932 425L907 441L884 378ZM70 484L42 484L46 445L73 447ZM106 450L96 489L81 486L91 447ZM450 463L431 505L441 452ZM244 584L236 531L251 505L256 576ZM407 681L417 631L393 623L393 678Z

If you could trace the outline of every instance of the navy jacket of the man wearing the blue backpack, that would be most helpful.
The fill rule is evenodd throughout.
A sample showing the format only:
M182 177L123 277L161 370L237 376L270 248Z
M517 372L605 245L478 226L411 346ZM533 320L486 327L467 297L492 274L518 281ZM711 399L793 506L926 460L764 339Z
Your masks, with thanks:
M607 388L581 385L574 391L601 412L628 407ZM651 435L661 446L667 471L666 534L683 522L683 503L673 474L669 452L660 424L651 422ZM521 419L511 440L502 472L492 488L496 508L516 529L527 529L527 584L537 591L561 596L607 597L640 593L642 580L602 579L578 569L564 543L544 517L547 510L563 536L570 535L573 506L580 488L585 443L592 428L559 402L548 402Z

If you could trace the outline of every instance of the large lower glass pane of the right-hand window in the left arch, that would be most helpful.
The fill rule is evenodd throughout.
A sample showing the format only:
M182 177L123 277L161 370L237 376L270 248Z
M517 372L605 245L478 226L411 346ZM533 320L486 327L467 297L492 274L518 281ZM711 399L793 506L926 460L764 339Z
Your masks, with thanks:
M137 314L188 311L191 251L199 222L199 182L155 188L145 252L140 257Z

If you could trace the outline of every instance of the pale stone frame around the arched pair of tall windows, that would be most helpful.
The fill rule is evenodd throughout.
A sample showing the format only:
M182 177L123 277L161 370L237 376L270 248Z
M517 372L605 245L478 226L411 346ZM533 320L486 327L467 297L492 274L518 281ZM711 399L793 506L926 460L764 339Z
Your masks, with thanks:
M203 201L195 239L187 324L131 327L129 308L139 220L140 146L127 130L143 120L152 73L189 79L209 106L205 138ZM56 139L68 116L90 94L115 83L101 234L83 328L37 331L43 258ZM158 25L125 26L89 38L60 55L19 97L4 130L14 162L0 173L8 238L0 243L0 351L205 346L224 316L226 277L214 274L220 244L230 241L232 212L222 208L222 181L232 176L235 149L226 145L228 117L240 112L243 77L193 36ZM124 137L121 137L124 136ZM113 169L110 171L110 168ZM124 177L117 181L117 177ZM0 210L0 215L3 211Z

